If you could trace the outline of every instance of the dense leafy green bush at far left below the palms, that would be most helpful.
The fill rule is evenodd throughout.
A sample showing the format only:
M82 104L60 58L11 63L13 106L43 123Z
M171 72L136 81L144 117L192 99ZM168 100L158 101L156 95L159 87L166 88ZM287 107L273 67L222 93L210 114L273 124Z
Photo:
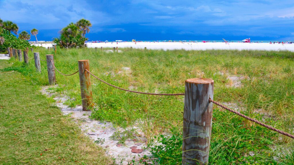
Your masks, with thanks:
M0 51L7 50L8 47L15 49L31 48L28 41L17 38L6 29L0 28L0 36L4 38L4 43L0 44Z

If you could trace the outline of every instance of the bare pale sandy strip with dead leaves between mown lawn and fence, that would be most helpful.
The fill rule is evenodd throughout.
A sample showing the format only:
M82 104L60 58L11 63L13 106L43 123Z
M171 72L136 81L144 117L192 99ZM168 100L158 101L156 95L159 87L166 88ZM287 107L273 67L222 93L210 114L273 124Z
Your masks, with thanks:
M101 122L98 120L89 119L91 111L82 111L82 106L77 106L70 108L63 103L71 99L65 95L58 95L56 92L52 92L49 88L57 87L55 86L46 86L41 89L41 93L47 97L54 97L56 100L56 106L61 109L64 115L70 115L83 133L90 137L93 142L98 142L103 148L107 150L107 154L115 158L117 164L128 164L134 156L136 159L143 157L144 155L151 156L148 149L146 149L146 144L143 141L146 141L146 137L143 132L138 127L127 128L128 130L136 129L137 137L134 139L127 139L125 144L119 144L117 140L113 140L111 136L115 132L123 132L123 128L113 127L111 122ZM133 153L140 152L140 153Z

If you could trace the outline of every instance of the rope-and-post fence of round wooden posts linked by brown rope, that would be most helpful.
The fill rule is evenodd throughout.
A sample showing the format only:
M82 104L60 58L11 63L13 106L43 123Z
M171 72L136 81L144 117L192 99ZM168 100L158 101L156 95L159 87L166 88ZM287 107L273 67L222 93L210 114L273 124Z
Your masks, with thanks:
M41 73L41 65L39 59L39 53L35 52L36 55L35 67L36 70ZM34 58L32 58L34 59ZM32 60L31 59L31 60ZM278 132L279 134L285 135L294 139L294 135L287 132L276 129L270 125L264 124L256 119L250 118L240 112L232 110L213 99L214 81L208 78L192 78L185 81L185 93L149 93L149 92L138 92L133 90L124 89L116 85L107 83L106 81L98 78L96 75L91 73L89 70L89 60L78 60L78 71L72 74L61 73L54 65L53 54L46 55L47 61L47 72L49 84L56 84L55 71L61 75L71 76L76 73L79 74L80 86L81 86L81 100L83 111L91 110L93 107L91 78L92 75L97 80L109 85L111 87L123 90L126 92L145 94L145 95L161 95L161 96L178 96L184 95L184 112L183 112L183 163L184 164L197 164L203 162L208 163L209 147L211 139L211 128L212 128L212 110L213 104L222 107L225 110L235 113L240 117L243 117L249 121L255 122L267 129ZM50 61L50 62L49 62ZM211 104L212 103L212 104ZM200 131L195 131L200 130Z

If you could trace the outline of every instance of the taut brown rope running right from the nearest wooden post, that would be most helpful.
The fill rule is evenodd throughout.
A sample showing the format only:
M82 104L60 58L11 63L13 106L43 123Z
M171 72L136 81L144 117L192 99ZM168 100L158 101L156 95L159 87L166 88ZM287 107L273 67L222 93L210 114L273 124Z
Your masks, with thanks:
M226 107L226 106L220 104L219 102L216 102L216 101L211 100L211 98L209 98L209 101L212 102L213 104L216 104L216 105L218 105L218 106L220 106L220 107L222 107L222 108L224 108L224 109L230 111L230 112L235 113L236 115L239 115L239 116L241 116L241 117L243 117L243 118L245 118L245 119L247 119L247 120L250 120L250 121L252 121L252 122L255 122L255 123L257 123L257 124L259 124L259 125L261 125L261 126L267 128L267 129L271 129L271 130L273 130L273 131L275 131L275 132L278 132L278 133L280 133L280 134L283 134L283 135L285 135L285 136L288 136L288 137L294 139L294 135L291 135L291 134L289 134L289 133L287 133L287 132L283 132L283 131L281 131L281 130L279 130L279 129L276 129L276 128L272 127L272 126L269 126L269 125L264 124L264 123L262 123L262 122L260 122L260 121L257 121L257 120L255 120L255 119L252 119L252 118L250 118L250 117L248 117L248 116L246 116L246 115L241 114L240 112L234 111L234 110L232 110L232 109L230 109L230 108L228 108L228 107Z

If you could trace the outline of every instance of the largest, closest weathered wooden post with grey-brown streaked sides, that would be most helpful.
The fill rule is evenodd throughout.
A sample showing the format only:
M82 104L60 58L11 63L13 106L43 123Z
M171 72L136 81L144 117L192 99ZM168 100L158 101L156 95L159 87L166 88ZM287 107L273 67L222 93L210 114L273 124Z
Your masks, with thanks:
M186 80L183 119L182 165L207 164L211 137L213 80Z

